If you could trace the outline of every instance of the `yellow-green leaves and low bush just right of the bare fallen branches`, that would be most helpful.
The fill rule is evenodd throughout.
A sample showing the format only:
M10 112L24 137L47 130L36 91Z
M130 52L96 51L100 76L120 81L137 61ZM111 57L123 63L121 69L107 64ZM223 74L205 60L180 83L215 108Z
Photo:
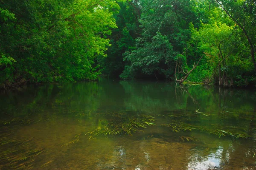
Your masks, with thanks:
M232 51L230 37L233 34L233 28L225 23L214 22L212 24L201 23L201 28L198 31L191 25L191 30L192 41L198 45L198 51L204 53L201 55L204 55L205 59L197 70L192 72L190 80L194 82L209 80L218 67L225 68L227 66L228 57Z

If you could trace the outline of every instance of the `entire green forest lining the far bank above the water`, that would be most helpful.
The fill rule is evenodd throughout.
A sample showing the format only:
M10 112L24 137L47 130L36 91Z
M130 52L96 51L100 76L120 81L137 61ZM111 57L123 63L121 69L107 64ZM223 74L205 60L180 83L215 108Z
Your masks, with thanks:
M98 77L256 85L255 0L0 0L0 88Z

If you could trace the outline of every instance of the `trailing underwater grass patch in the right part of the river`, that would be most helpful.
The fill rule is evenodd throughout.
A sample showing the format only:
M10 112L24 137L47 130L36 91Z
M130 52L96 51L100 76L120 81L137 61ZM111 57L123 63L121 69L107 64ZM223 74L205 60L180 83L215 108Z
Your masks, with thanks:
M169 129L172 132L181 132L181 131L200 131L202 133L209 133L216 135L218 137L223 136L232 136L235 138L250 138L252 135L248 133L248 129L245 129L244 127L231 127L231 126L223 126L218 123L216 124L207 124L207 122L211 122L212 119L214 120L215 117L212 118L212 115L209 113L203 113L199 111L200 109L197 109L193 112L190 111L172 111L170 113L164 113L164 114L158 114L157 116L164 117L166 119L169 119L170 123L168 124L162 124L164 127L169 127ZM233 113L230 111L225 111L226 113ZM235 114L236 115L236 114ZM213 116L215 116L213 114ZM233 115L232 115L233 116ZM202 122L198 122L197 119L200 119L200 121L204 120L205 123L202 124ZM232 117L231 117L232 118ZM186 123L186 122L193 122L193 123ZM197 122L197 123L196 123Z

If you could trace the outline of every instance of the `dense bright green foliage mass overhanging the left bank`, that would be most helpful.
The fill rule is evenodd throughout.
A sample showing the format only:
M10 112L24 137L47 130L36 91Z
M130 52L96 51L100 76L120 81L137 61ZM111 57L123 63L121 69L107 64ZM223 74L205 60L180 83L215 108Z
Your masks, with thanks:
M34 82L97 78L100 71L94 60L105 55L110 28L116 28L115 1L5 0L4 4L0 17L12 22L1 24L4 51L0 52L10 57L9 62L17 61L12 66L19 73L10 81L17 79L15 75ZM7 63L6 59L1 58Z

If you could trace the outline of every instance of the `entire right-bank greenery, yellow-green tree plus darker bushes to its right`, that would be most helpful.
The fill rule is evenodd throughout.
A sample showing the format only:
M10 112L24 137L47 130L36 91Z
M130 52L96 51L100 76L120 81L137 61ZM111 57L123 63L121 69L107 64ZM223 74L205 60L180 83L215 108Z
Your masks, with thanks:
M212 12L222 14L219 9L214 9ZM197 71L192 73L192 81L209 80L215 77L219 85L233 86L241 84L234 83L236 82L234 79L252 72L253 63L248 62L247 57L250 52L244 39L239 36L241 32L237 29L236 23L232 20L212 17L209 23L201 23L201 28L198 30L192 24L190 28L191 42L196 44L198 51L203 52L206 57L198 66ZM197 79L198 77L200 78Z

